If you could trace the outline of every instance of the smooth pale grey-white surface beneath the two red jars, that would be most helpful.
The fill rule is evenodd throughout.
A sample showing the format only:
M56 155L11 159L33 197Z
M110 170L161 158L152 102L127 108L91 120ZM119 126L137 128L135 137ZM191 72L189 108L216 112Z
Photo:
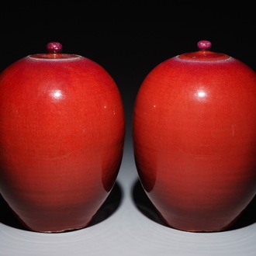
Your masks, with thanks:
M196 255L254 256L256 214L234 229L216 233L189 233L165 227L141 193L130 144L126 144L113 196L118 206L106 206L91 227L60 234L40 234L0 223L0 255ZM145 204L144 204L145 200ZM117 203L117 204L118 204ZM139 206L138 204L142 204ZM143 205L144 204L144 205ZM117 209L115 208L117 207ZM150 208L151 207L151 208ZM141 209L145 208L144 211ZM1 209L0 209L1 210ZM151 213L150 213L151 211ZM147 214L150 217L146 216ZM108 213L109 214L109 213ZM247 216L244 216L244 218ZM104 218L103 218L104 219Z

